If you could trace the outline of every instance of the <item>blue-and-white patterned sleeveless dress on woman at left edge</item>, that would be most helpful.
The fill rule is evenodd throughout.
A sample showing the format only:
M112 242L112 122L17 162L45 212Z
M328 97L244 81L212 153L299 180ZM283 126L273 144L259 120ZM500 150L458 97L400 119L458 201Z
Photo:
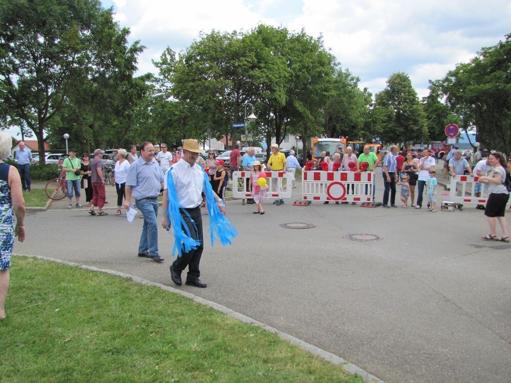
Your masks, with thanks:
M9 164L0 163L0 270L11 267L14 245L14 211L9 189Z

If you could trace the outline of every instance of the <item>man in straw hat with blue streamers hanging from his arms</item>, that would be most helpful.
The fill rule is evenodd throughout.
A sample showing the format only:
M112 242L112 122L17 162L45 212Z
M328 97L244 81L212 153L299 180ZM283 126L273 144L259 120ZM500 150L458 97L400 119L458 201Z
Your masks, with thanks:
M199 263L204 249L200 214L202 192L207 199L212 245L215 235L222 245L227 245L237 232L217 207L216 204L223 211L222 200L213 191L209 176L195 164L199 153L204 151L199 148L197 140L184 140L181 159L170 167L165 177L161 225L167 230L171 226L174 229L172 255L177 252L178 257L170 266L172 281L180 286L181 273L188 267L186 284L205 288L206 283L199 279Z

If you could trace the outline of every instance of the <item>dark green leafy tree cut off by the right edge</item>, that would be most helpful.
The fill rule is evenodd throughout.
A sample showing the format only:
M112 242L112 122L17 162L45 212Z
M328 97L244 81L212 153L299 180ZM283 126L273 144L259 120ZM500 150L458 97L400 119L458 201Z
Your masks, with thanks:
M511 34L438 82L450 110L486 147L511 152Z

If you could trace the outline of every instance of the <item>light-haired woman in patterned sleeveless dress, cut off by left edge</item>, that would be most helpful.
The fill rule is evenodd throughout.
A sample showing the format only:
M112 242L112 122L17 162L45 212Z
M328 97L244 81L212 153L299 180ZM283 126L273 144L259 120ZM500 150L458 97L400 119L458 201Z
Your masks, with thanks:
M0 132L0 158L11 154L12 137ZM13 211L14 208L14 211ZM16 214L16 225L14 225ZM5 319L5 300L9 289L9 268L14 237L25 241L25 201L18 170L0 160L0 320Z

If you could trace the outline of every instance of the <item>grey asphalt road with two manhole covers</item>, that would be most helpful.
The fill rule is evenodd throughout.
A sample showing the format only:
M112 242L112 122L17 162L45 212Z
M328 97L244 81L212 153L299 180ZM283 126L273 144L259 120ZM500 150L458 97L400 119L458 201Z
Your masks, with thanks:
M293 200L300 198L300 183L294 190ZM442 193L438 201L446 198ZM291 201L267 202L264 216L251 214L253 205L239 201L228 202L227 209L239 236L231 246L211 248L205 234L201 279L208 287L182 290L335 353L388 382L511 381L511 247L479 239L488 232L482 211L296 207ZM115 217L114 210L106 211L110 216L91 217L85 208L31 213L27 241L16 244L15 252L172 285L173 237L160 229L163 264L138 258L142 220L129 224L124 213ZM290 222L316 227L278 226ZM381 240L344 237L352 233Z

